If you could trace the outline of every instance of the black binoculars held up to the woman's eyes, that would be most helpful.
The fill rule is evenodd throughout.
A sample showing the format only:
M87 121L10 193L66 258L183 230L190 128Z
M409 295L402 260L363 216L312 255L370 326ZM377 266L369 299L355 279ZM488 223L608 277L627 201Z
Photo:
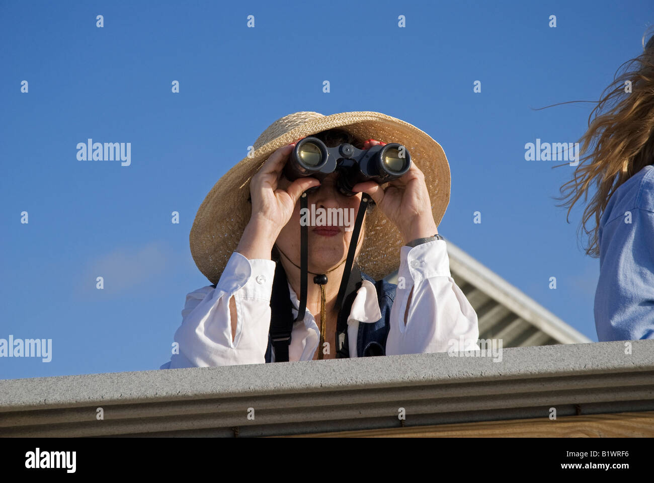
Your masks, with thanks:
M298 141L290 153L284 176L295 181L311 176L322 181L327 175L339 171L336 186L345 196L353 196L356 183L373 180L379 184L398 179L411 168L411 155L399 143L356 149L349 143L327 147L317 137Z

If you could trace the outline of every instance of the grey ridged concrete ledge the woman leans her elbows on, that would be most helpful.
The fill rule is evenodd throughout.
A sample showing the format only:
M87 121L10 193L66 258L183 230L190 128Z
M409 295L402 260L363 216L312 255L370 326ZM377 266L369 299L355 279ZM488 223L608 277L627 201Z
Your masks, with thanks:
M654 410L654 340L0 381L3 436L258 436ZM477 354L479 354L477 352ZM103 408L104 420L96 420ZM254 408L254 420L248 420Z

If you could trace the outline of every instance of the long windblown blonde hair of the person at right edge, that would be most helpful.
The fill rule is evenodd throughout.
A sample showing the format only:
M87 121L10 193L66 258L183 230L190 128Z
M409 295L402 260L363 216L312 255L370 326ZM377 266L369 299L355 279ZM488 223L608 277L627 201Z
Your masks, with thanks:
M654 162L654 35L640 56L619 67L591 111L588 125L579 139L579 166L573 179L562 185L562 196L557 199L564 200L559 206L568 207L569 219L574 204L581 196L586 202L591 186L596 186L579 231L589 237L586 254L599 257L599 224L609 199L627 179Z

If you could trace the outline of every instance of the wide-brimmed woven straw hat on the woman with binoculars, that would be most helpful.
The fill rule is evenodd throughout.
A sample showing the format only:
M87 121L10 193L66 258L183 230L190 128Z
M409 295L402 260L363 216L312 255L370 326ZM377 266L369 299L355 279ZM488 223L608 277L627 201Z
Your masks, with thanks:
M324 116L299 112L277 119L256 139L254 151L229 170L211 188L198 209L190 232L191 255L211 283L218 283L230 256L250 220L250 178L280 147L318 132L340 128L357 139L400 143L424 173L438 225L449 203L450 172L445 152L428 134L412 124L370 111ZM358 266L379 280L398 269L404 240L392 221L377 207L366 215L366 230ZM311 250L311 247L309 247Z

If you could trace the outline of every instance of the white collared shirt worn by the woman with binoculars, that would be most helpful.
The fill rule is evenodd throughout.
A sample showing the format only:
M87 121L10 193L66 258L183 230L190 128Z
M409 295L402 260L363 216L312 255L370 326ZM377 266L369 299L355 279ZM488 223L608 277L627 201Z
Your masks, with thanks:
M171 361L161 368L265 363L274 275L273 260L249 260L238 252L232 253L215 289L208 285L186 295L182 325L174 339L179 344L179 354L173 354ZM405 307L412 288L405 327ZM293 316L297 317L298 297L290 283L288 289ZM237 312L233 341L229 308L232 296ZM357 357L358 325L375 323L380 318L375 286L364 280L348 317L350 357ZM459 348L461 336L464 348ZM387 355L446 352L451 348L479 350L478 338L477 314L451 277L445 241L402 247L398 287L390 311ZM304 320L293 325L288 360L311 361L319 342L320 329L307 310Z

